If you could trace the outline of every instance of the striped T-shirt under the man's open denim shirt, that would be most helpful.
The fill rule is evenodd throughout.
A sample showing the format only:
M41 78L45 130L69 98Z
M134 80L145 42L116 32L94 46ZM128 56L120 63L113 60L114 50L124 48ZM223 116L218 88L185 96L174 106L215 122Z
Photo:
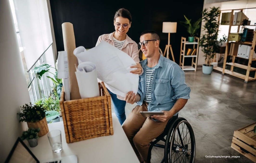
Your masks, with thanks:
M146 90L146 96L145 96L144 101L148 104L151 103L151 88L152 88L152 80L154 77L155 68L156 68L156 66L147 67L147 69L146 69L147 90Z

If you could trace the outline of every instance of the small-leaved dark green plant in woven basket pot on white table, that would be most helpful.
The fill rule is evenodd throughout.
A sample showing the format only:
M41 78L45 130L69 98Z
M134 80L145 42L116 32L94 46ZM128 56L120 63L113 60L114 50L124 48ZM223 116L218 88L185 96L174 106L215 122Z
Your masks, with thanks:
M42 105L25 104L22 107L22 112L18 113L20 122L27 122L28 128L39 128L38 136L43 136L48 133L46 122L46 110Z

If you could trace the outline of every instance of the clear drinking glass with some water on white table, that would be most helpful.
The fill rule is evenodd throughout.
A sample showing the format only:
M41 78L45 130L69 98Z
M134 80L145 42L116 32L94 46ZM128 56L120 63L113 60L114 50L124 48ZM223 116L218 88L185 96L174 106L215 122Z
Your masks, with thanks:
M52 130L47 134L47 136L48 136L52 151L59 153L62 150L61 131Z

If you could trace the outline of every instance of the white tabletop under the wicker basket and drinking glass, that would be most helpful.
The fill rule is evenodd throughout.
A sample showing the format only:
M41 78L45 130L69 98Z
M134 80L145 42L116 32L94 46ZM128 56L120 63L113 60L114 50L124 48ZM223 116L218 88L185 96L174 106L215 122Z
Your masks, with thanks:
M136 163L139 162L132 146L127 139L117 117L112 113L114 134L101 136L80 142L66 143L63 121L48 124L49 131L61 130L62 151L60 154L52 152L47 134L39 137L36 147L29 147L40 162L55 159L60 156L77 155L78 162L89 163ZM25 141L27 144L27 141Z

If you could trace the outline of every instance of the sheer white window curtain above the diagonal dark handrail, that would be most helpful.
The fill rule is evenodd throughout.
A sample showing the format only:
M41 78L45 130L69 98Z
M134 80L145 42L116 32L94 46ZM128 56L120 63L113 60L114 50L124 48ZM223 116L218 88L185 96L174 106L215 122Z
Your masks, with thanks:
M52 43L46 0L14 0L20 39L29 69ZM47 51L51 51L49 48Z

